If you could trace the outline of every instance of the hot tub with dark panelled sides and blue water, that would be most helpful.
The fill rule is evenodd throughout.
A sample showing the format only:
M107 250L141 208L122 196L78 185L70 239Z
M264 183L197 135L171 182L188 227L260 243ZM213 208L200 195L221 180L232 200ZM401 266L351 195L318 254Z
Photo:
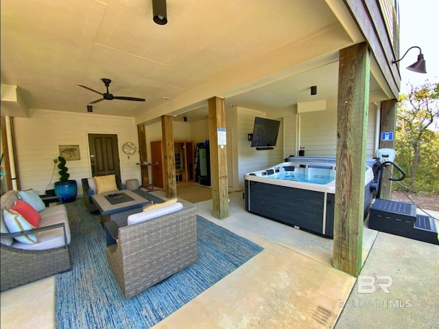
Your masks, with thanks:
M335 159L288 161L244 175L246 210L333 238ZM305 160L305 159L303 159ZM364 218L372 203L372 168L365 166Z

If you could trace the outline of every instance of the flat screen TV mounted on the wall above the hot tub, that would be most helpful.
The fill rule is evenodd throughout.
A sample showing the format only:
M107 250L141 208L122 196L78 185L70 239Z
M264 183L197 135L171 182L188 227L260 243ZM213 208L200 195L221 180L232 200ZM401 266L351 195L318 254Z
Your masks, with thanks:
M272 150L276 146L280 121L255 117L252 136L252 148Z

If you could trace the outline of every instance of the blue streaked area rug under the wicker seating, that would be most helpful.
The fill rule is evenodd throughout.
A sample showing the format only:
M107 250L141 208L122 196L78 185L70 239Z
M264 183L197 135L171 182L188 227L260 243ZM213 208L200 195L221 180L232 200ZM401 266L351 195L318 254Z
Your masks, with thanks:
M198 262L126 300L106 260L99 216L82 198L66 207L73 269L56 275L56 328L150 328L263 250L197 216Z

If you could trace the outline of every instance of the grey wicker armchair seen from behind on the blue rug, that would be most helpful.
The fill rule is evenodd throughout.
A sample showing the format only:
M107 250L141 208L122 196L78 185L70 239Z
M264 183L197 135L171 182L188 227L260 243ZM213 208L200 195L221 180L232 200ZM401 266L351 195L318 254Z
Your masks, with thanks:
M117 224L106 223L107 238L114 225ZM194 206L116 228L117 243L106 247L106 255L126 299L165 280L198 259Z

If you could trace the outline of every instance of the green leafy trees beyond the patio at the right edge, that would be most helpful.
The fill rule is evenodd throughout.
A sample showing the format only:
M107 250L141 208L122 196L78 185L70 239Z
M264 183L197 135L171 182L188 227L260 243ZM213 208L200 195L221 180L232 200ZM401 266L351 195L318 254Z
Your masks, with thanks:
M439 158L439 83L409 84L396 112L396 150L407 168L408 192L437 192ZM436 132L435 132L436 131Z

